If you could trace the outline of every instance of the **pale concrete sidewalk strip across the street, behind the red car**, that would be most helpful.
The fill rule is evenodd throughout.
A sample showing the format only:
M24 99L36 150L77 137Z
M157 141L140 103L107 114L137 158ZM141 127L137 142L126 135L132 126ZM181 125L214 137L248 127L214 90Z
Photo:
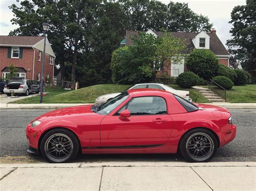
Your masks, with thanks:
M0 109L59 109L72 107L77 105L86 105L90 103L28 103L28 104L14 104L14 103L0 103ZM93 104L93 103L92 103ZM225 103L215 102L207 103L219 105L227 109L256 109L256 103Z

